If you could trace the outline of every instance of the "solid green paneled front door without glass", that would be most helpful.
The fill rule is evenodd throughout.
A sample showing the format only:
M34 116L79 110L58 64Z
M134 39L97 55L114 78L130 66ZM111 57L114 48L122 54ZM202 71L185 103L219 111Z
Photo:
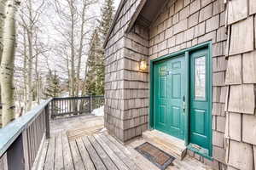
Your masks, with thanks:
M157 62L154 69L154 127L184 139L184 56Z

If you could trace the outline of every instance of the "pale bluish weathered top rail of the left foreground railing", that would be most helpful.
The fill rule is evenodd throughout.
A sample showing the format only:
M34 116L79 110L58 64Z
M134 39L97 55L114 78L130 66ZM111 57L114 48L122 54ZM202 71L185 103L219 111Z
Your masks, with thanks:
M47 99L43 104L33 108L32 111L28 111L26 115L20 116L15 121L10 122L6 127L0 129L0 157L14 143L15 139L19 137L20 133L39 116L51 100Z

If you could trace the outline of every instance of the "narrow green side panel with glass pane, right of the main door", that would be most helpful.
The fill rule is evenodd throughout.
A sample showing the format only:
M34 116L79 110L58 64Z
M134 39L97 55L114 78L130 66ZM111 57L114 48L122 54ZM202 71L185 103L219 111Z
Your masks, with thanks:
M189 142L210 149L210 69L208 48L189 54Z

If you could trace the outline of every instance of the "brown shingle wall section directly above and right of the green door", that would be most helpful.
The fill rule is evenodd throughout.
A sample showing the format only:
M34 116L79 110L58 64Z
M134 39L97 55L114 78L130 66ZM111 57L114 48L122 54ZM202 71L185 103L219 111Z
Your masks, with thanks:
M226 168L224 106L228 87L225 85L227 68L225 8L224 0L170 0L150 27L149 33L149 59L172 54L201 42L212 41L212 155L214 160L209 161L192 151L189 151L189 155L195 156L215 169ZM239 59L237 57L233 62ZM237 71L239 66L236 65L234 71ZM238 77L234 78L239 81Z

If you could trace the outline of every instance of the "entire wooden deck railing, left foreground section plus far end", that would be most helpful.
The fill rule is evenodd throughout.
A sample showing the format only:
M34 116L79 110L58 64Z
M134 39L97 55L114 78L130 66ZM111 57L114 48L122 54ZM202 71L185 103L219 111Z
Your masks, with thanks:
M0 170L31 170L44 139L49 139L49 119L90 113L104 105L102 96L48 99L0 129Z

